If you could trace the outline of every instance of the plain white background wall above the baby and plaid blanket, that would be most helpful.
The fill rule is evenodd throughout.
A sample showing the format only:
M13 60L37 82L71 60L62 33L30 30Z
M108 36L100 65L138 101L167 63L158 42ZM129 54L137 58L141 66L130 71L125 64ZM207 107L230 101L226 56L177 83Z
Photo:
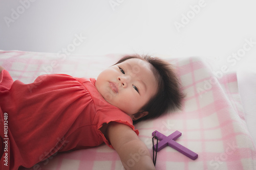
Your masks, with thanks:
M0 49L203 56L231 68L255 58L255 8L253 0L0 0ZM243 54L245 39L254 44Z

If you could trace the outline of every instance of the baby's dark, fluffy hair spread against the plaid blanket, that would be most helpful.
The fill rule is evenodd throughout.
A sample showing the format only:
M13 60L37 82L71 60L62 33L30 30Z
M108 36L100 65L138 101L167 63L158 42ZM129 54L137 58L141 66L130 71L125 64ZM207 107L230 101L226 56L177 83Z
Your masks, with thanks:
M141 59L150 63L158 83L157 93L140 110L140 112L148 111L148 114L138 120L134 120L133 123L136 124L141 120L156 118L168 111L181 109L182 99L185 95L182 93L174 66L158 57L151 57L149 55L140 56L138 54L126 55L116 64L132 58Z

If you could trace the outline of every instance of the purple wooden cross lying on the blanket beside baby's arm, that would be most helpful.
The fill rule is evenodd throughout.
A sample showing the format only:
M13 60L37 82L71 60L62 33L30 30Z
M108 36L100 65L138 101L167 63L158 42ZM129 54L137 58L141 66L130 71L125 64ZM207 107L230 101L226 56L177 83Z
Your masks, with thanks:
M183 147L183 145L177 143L175 140L178 139L181 136L181 132L175 131L174 133L170 134L169 136L165 136L162 133L158 131L154 131L152 133L152 136L156 136L160 141L158 142L158 151L169 145L173 149L179 151L180 153L186 155L190 159L197 159L198 154L196 154L193 151L190 151L189 149ZM154 149L156 150L156 144L154 145Z

